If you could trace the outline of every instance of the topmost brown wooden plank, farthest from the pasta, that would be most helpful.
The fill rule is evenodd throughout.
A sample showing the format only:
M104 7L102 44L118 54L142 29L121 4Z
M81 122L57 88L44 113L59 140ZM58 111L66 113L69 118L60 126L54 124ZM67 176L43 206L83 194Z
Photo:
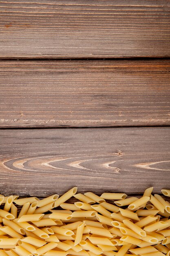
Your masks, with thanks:
M1 58L167 56L169 0L0 1Z

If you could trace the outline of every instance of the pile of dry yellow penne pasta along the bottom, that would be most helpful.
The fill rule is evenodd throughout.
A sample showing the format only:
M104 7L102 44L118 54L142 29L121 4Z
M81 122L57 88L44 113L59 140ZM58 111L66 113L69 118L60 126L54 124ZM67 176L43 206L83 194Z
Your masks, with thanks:
M152 190L141 198L77 187L42 200L0 195L0 256L170 256L170 203ZM77 202L66 202L72 196Z

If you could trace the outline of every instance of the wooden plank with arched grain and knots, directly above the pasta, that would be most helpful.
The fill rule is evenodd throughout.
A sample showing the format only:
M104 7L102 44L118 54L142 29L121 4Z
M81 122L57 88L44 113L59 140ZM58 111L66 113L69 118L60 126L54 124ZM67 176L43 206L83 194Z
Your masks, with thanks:
M2 194L170 188L170 127L2 129L0 141Z

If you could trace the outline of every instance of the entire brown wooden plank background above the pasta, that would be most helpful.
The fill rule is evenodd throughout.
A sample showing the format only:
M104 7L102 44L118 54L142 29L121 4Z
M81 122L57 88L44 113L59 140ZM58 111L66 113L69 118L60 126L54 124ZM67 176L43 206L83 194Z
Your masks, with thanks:
M0 193L170 189L170 1L0 1Z

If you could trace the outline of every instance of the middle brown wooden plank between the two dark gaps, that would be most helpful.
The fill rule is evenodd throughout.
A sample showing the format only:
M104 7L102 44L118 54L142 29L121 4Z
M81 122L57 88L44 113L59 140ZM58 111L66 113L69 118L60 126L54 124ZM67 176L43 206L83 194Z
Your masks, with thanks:
M170 61L1 61L0 127L170 125Z

